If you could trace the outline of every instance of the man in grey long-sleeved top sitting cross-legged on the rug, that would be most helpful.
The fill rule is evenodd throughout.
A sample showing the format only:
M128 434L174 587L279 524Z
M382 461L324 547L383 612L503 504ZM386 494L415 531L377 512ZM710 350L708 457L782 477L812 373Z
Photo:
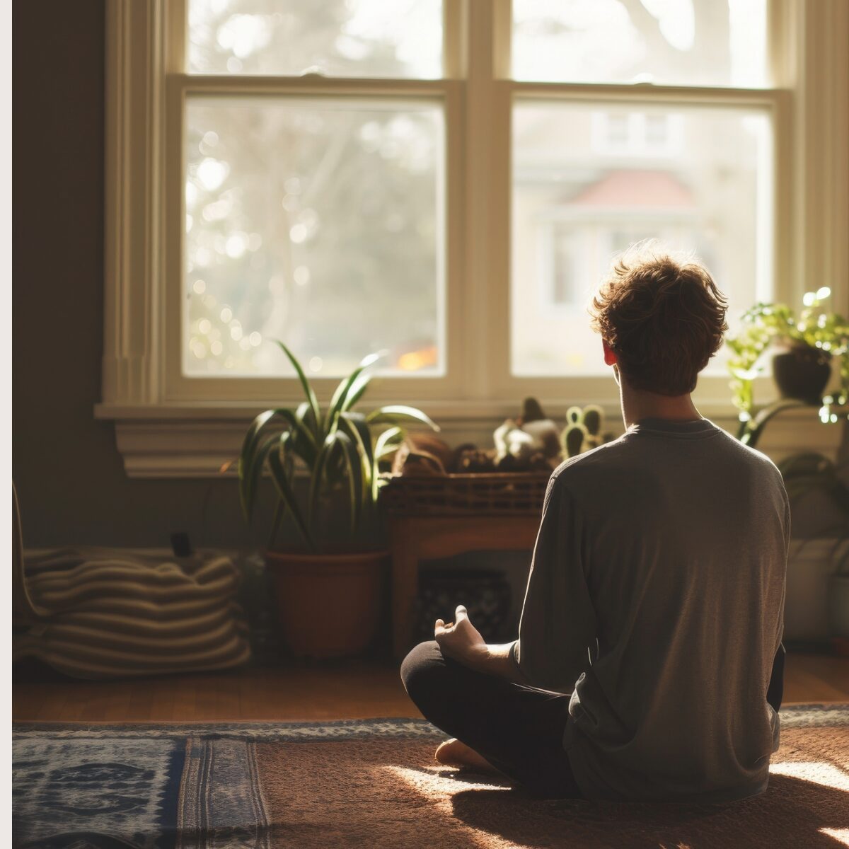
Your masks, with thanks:
M642 246L593 300L621 438L548 483L519 639L465 608L402 679L455 739L438 761L494 767L543 797L731 801L778 746L790 509L769 459L690 393L722 345L704 267Z

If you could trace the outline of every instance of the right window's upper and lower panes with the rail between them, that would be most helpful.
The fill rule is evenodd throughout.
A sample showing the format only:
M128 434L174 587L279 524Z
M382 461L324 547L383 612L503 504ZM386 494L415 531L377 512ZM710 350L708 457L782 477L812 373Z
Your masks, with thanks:
M732 323L773 296L775 104L738 96L767 82L766 32L763 0L514 0L512 374L605 374L586 306L634 241L706 261Z

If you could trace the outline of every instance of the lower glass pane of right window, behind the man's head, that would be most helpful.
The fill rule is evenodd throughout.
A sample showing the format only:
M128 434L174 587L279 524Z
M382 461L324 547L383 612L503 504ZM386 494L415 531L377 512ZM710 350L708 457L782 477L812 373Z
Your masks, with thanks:
M772 296L766 114L521 104L513 121L514 374L607 373L588 303L614 254L643 239L695 251L732 327Z

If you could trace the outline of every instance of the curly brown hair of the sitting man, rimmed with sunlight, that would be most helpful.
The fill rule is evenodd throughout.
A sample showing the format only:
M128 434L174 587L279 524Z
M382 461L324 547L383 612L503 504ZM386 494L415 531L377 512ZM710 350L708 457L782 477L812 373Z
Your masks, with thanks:
M695 389L722 346L727 309L699 262L641 243L613 262L590 314L628 385L677 396Z

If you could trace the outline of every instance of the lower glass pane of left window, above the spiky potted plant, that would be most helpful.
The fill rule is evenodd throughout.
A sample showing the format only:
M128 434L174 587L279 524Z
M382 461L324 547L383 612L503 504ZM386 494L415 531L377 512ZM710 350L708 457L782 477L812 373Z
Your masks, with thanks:
M430 104L190 100L184 371L290 374L283 340L442 374L443 136Z

